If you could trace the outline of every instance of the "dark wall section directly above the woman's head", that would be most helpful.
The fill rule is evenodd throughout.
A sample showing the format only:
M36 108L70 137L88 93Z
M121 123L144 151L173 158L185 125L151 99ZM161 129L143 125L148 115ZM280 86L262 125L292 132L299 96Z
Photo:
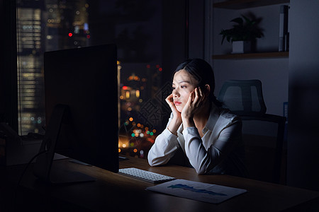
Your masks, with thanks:
M164 83L185 59L204 58L205 1L162 1L162 44Z

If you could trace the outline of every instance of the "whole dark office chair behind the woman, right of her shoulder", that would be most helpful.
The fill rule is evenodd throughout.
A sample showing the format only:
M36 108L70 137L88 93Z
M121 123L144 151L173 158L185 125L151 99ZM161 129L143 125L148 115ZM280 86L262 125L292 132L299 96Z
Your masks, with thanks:
M218 100L223 102L223 107L230 109L242 119L249 177L279 183L286 117L266 114L267 107L262 95L262 82L259 80L226 81L220 89ZM267 124L266 122L277 125L276 129L273 127L270 130L275 134L274 147L272 148L269 148L271 136L267 134L256 135L257 131L260 132L269 128L264 126ZM269 151L269 149L272 149L272 151ZM269 155L273 155L273 157L265 161L264 157ZM269 165L270 160L273 161L273 165L270 170L266 170L266 165ZM263 171L264 173L262 173Z

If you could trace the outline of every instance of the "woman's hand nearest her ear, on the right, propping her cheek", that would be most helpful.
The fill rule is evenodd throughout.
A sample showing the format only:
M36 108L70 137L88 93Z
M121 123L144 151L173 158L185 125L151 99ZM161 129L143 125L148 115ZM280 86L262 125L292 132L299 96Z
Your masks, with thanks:
M181 119L184 125L195 126L194 115L201 110L201 106L205 100L206 97L199 87L190 93L189 100L187 100L185 107L181 111Z

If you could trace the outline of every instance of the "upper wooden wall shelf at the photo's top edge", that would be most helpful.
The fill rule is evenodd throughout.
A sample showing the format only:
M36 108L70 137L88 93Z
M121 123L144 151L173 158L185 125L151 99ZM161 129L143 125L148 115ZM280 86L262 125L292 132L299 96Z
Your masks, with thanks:
M273 4L285 4L290 0L229 0L213 4L214 8L228 8L238 10L242 8L252 8L257 6L267 6Z

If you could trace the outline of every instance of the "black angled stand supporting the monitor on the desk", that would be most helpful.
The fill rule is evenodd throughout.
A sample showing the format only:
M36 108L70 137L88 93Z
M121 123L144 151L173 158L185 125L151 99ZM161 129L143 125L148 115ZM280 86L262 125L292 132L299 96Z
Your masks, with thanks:
M69 113L67 105L55 106L45 132L45 137L40 146L38 158L33 167L33 173L39 179L51 184L95 181L96 178L84 173L73 172L66 168L52 165L61 125L65 122L67 113Z

